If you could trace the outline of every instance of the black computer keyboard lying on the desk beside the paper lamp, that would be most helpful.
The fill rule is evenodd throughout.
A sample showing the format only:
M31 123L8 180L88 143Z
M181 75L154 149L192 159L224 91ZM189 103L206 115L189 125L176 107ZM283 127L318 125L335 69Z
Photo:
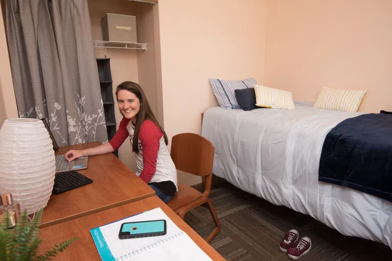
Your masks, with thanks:
M60 194L65 191L73 190L84 185L93 183L88 177L70 170L67 172L56 174L55 185L53 186L53 194Z

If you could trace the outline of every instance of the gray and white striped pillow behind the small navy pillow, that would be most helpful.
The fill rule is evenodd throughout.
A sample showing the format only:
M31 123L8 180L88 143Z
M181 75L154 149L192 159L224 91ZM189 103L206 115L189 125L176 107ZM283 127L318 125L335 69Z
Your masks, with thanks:
M219 106L225 109L240 108L234 90L253 88L253 84L257 84L256 80L253 78L242 81L223 81L210 78L210 83Z

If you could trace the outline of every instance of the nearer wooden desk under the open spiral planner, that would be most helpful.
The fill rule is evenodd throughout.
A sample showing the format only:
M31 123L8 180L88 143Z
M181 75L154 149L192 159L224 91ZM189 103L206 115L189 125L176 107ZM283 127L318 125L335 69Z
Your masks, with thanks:
M55 244L77 237L55 260L101 260L91 237L90 229L114 222L144 211L160 207L168 217L207 254L211 259L225 260L215 249L203 240L187 223L180 219L162 200L153 196L126 205L110 208L99 213L63 222L40 230L40 239L45 239L39 254L49 250Z

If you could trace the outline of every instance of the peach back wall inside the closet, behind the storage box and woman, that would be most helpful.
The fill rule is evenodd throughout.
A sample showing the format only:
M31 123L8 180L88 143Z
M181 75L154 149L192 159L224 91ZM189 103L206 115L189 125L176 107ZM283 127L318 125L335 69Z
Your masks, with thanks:
M88 0L91 28L94 40L102 40L101 18L106 13L135 15L133 2L126 0ZM105 56L104 48L95 48L96 57ZM113 96L116 112L116 122L119 126L122 116L118 110L116 101L116 87L125 81L139 82L137 69L137 51L134 49L106 48L106 56L110 59L111 77L113 81ZM136 171L136 163L130 143L125 141L119 149L119 159L133 171Z

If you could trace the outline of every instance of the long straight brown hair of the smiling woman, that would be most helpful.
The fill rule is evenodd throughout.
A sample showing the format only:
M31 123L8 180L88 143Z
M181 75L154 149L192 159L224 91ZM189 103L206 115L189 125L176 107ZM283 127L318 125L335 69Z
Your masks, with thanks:
M117 86L116 89L116 97L117 100L118 98L118 93L121 90L127 90L131 93L133 93L140 101L140 110L139 113L136 115L136 122L135 122L135 131L133 133L133 139L132 139L132 151L139 153L139 132L140 132L140 127L142 126L142 123L145 120L150 120L154 122L154 124L162 131L164 134L164 139L166 145L168 145L168 136L166 135L166 132L164 131L164 128L160 126L158 121L156 120L154 114L151 111L150 105L148 104L148 100L146 97L146 94L144 94L143 88L134 82L124 82Z

